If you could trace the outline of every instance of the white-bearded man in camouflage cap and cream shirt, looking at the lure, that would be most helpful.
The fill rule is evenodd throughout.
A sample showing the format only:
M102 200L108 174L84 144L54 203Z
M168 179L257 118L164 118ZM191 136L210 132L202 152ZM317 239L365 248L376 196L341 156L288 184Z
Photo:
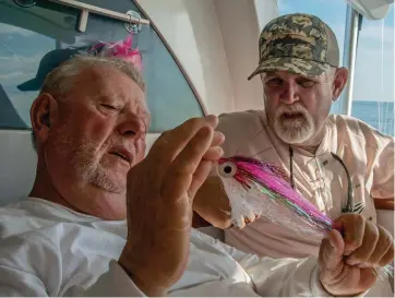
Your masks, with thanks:
M259 65L249 80L260 75L264 109L219 116L225 157L274 163L333 219L347 212L376 223L376 208L394 207L394 138L351 117L330 115L348 80L333 31L313 15L283 15L264 27L259 48ZM272 258L319 255L319 238L296 235L254 214L244 214L237 218L239 227L231 227L229 202L216 177L201 188L194 211L226 229L225 241L242 251ZM359 260L373 261L369 252Z

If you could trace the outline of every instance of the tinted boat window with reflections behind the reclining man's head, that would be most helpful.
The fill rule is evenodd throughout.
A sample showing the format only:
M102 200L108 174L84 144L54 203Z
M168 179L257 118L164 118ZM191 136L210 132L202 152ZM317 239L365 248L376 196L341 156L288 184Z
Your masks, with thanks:
M122 13L133 10L142 15L130 0L81 2ZM76 31L79 16L80 10L50 1L22 8L14 1L0 0L0 128L31 129L32 102L55 65L98 40L118 41L130 34L122 21L92 13L86 32L81 33ZM161 132L203 116L193 88L151 25L141 26L133 36L133 47L143 58L152 112L149 132Z

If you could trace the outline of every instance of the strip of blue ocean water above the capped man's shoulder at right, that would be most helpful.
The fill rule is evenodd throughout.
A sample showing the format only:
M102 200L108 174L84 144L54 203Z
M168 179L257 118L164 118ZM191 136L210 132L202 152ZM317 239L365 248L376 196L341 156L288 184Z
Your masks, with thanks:
M394 133L394 103L352 102L351 116L385 134Z

